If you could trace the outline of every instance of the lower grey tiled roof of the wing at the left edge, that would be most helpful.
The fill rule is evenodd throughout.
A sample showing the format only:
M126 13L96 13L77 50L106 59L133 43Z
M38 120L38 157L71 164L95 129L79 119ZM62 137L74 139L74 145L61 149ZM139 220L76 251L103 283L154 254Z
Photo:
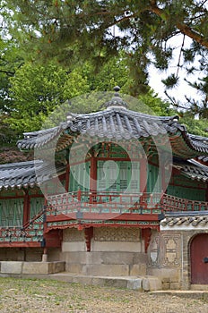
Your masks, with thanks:
M65 166L59 166L57 172L61 173ZM0 165L0 190L8 188L34 187L38 182L47 182L55 175L52 165L43 161L28 161Z

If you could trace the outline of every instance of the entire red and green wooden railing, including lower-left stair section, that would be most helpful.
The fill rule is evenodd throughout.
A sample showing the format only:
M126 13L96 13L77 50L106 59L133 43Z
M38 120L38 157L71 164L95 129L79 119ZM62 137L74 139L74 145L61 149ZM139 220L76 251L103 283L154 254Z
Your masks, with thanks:
M134 215L130 220L145 221L148 218L151 220L151 217L145 215L152 215L152 220L160 223L157 215L161 213L205 210L208 210L208 202L182 199L165 193L93 193L78 190L48 196L47 207L44 207L24 227L0 227L0 245L13 242L20 244L39 242L41 244L44 221L47 222L48 218L53 223L54 220L65 221L65 216L74 219L107 220L118 218L119 220L121 215ZM62 216L62 218L56 219L56 216ZM128 216L123 217L128 220Z

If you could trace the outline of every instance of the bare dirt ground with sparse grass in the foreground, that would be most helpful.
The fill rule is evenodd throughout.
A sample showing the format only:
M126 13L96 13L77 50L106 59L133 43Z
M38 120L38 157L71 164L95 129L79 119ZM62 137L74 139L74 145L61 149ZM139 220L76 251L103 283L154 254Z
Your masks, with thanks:
M1 277L0 312L205 313L208 301L78 283Z

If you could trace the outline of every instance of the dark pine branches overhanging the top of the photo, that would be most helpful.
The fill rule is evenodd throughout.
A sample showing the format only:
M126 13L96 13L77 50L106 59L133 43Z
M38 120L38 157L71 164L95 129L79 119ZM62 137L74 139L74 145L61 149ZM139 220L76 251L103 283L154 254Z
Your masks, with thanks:
M207 55L208 14L203 1L8 0L4 7L10 33L32 61L53 58L72 68L90 60L98 68L125 51L129 75L136 81L134 95L148 91L151 63L161 71L169 68L177 48L170 38L183 34L192 45L186 49L182 45L168 87L178 82L182 56L194 64L195 58Z

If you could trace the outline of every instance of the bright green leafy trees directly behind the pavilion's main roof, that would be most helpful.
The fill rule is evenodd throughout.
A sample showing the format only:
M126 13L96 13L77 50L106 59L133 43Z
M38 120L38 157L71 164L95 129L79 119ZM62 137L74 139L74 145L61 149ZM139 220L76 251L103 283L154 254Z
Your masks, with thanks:
M113 97L115 85L121 86L121 92L135 97L129 100L126 96L130 109L169 114L169 104L163 103L152 90L145 96L134 94L136 83L129 78L122 54L110 59L98 73L91 63L72 72L52 62L48 66L25 63L10 79L10 84L13 105L8 122L19 136L22 132L53 127L65 121L68 112L83 114L100 110Z

